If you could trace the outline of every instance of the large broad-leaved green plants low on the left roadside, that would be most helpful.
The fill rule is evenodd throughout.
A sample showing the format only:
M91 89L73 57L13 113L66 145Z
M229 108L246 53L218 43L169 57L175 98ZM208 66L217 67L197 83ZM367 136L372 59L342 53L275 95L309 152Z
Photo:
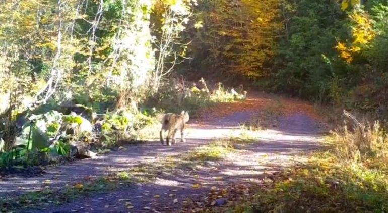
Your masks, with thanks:
M57 156L69 158L70 143L88 137L81 134L81 130L86 128L81 125L85 125L87 120L74 113L63 115L48 111L40 115L27 115L27 118L31 122L23 125L14 147L0 151L3 161L0 167L47 164ZM69 125L73 131L68 132Z

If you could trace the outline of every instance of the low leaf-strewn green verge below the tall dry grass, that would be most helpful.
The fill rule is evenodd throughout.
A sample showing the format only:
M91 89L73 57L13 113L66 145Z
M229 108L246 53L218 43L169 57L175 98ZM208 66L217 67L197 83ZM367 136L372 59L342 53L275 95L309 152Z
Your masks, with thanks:
M386 212L386 174L360 164L343 164L331 153L315 154L265 183L236 212Z

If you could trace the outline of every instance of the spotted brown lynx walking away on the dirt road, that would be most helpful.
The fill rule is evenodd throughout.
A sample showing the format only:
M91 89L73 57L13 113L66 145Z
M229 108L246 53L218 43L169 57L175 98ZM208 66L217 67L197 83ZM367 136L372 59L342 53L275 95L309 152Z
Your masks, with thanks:
M167 146L170 146L170 139L172 144L175 144L176 142L175 135L178 129L180 130L181 141L186 142L186 140L184 139L184 128L188 119L188 112L185 111L182 111L180 115L174 113L167 113L166 115L164 115L161 120L162 129L160 130L160 142L162 143L162 145L164 144L163 132L168 131L166 143Z

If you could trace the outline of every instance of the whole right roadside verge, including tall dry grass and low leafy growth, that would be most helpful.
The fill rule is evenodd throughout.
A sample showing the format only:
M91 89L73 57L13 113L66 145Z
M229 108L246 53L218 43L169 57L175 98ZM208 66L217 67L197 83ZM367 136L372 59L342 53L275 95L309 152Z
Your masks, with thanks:
M387 212L387 134L378 122L344 116L345 125L327 137L328 151L275 174L254 196L225 211Z

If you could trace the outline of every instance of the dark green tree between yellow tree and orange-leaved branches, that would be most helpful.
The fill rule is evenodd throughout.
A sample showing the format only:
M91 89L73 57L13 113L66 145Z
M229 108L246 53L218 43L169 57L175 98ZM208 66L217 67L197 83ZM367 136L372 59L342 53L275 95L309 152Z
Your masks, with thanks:
M347 69L337 70L337 54L333 49L336 37L346 32L342 12L335 1L287 1L286 37L278 44L275 88L305 97L329 95L329 82Z

